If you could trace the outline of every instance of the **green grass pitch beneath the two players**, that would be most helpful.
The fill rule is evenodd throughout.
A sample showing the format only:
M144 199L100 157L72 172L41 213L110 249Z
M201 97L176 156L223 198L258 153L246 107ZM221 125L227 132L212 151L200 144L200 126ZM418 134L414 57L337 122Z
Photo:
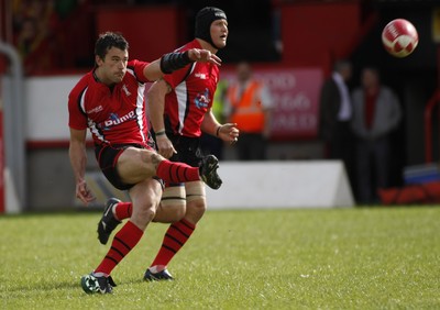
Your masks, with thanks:
M108 247L99 213L0 218L0 309L440 309L440 208L211 211L144 283L167 225L114 269L113 295L79 278Z

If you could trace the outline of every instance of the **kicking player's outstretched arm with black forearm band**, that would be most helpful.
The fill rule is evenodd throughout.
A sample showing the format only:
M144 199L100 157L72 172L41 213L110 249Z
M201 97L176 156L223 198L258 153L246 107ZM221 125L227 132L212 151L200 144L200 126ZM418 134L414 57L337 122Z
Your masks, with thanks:
M165 54L160 59L150 63L144 68L144 76L148 80L158 80L164 74L172 74L175 70L185 68L187 65L198 63L210 63L221 65L221 59L208 49L191 48L185 52L173 52Z

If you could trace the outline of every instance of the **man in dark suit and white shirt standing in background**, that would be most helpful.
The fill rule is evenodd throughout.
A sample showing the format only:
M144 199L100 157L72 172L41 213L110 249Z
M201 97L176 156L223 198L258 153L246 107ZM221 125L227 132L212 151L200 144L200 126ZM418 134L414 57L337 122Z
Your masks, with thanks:
M352 103L348 81L352 75L352 66L348 60L334 64L331 77L324 81L320 95L319 134L326 143L326 156L341 159L353 187L354 136L350 126Z

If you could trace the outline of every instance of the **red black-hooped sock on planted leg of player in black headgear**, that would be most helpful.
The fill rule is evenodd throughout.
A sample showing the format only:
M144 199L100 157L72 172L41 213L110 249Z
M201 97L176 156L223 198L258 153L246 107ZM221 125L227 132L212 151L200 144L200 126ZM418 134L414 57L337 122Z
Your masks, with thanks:
M162 247L151 266L165 267L168 265L169 261L172 261L174 255L184 246L195 229L196 225L185 219L169 225L165 233Z

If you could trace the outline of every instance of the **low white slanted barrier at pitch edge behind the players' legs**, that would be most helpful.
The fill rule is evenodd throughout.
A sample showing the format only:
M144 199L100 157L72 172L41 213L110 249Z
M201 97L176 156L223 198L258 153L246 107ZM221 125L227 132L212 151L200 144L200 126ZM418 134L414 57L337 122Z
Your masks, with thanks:
M354 200L340 160L223 162L219 190L207 188L210 209L345 208ZM96 207L109 197L128 201L100 171L86 180L95 192Z

